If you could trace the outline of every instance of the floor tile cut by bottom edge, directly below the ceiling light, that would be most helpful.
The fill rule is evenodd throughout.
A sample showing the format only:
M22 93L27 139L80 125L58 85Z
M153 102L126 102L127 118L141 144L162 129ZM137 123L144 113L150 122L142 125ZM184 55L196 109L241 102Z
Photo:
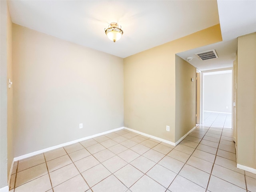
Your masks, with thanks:
M94 192L125 192L127 188L115 176L110 175L108 178L93 186L92 190Z

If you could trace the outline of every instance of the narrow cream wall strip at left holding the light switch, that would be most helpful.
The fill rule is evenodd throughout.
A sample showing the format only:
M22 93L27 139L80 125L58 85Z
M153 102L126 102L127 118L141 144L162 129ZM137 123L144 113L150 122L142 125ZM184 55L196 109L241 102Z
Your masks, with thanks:
M12 20L7 8L7 78L12 81ZM7 89L7 170L8 176L13 161L13 88Z

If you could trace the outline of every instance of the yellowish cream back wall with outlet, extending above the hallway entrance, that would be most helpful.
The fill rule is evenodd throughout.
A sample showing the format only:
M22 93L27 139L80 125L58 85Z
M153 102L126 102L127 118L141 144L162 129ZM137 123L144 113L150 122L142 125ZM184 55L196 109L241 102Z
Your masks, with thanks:
M175 142L175 54L220 41L218 24L124 58L124 126Z

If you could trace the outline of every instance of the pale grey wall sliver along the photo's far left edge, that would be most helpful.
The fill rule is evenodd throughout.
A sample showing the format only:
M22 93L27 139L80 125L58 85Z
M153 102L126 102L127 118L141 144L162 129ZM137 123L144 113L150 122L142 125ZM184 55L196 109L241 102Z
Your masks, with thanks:
M0 188L7 186L7 21L5 0L0 1Z

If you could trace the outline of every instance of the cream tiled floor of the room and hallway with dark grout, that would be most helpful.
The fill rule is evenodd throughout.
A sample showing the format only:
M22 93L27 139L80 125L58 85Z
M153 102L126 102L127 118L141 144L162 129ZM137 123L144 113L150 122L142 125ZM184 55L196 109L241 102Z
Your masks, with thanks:
M119 130L15 162L12 192L256 191L229 128L200 125L178 146Z

